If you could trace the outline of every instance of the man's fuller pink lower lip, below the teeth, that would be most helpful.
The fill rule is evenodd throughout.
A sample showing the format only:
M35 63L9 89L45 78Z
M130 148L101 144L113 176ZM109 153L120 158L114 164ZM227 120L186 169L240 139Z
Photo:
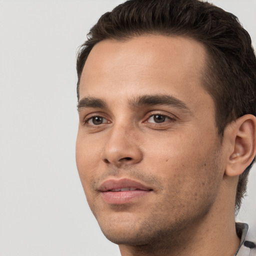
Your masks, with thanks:
M105 191L102 197L107 203L123 204L133 201L136 198L143 197L148 194L149 190L129 190L129 191Z

